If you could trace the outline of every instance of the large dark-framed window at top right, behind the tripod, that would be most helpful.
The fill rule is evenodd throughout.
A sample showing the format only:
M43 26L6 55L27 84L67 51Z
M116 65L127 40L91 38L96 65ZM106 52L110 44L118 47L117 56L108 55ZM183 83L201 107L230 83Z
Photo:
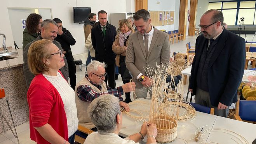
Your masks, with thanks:
M244 24L256 25L256 0L210 2L208 9L220 10L228 25L239 25L241 17L244 17Z

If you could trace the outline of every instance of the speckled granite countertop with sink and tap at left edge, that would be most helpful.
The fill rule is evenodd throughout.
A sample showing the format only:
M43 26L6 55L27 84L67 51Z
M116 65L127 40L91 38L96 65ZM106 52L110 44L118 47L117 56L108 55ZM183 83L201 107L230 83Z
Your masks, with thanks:
M9 50L12 49L11 47L7 47ZM1 50L2 48L0 48ZM2 51L2 50L1 50ZM16 57L14 59L7 59L0 61L0 70L2 69L9 69L9 68L14 68L17 66L23 66L23 52L22 49L12 49L12 51L17 51L18 54L10 55L8 57Z

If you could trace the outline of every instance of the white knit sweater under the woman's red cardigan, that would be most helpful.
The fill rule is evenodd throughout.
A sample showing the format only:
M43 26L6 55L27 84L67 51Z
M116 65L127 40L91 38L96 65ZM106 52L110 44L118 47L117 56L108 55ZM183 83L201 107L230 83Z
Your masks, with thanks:
M43 74L44 75L44 74ZM68 122L68 137L74 134L78 128L77 107L75 104L75 92L68 85L68 82L57 72L57 76L44 75L52 83L61 95L64 104L64 110Z

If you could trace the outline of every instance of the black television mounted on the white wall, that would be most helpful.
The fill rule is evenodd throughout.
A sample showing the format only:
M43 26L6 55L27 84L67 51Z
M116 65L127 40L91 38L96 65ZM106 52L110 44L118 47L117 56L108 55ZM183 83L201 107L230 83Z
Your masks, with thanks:
M91 7L73 7L74 23L83 24L85 18L91 13Z

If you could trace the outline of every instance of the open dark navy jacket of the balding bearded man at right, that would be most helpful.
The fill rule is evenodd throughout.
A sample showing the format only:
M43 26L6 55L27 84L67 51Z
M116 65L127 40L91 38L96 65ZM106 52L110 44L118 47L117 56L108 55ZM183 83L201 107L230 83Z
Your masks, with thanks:
M245 40L225 28L220 36L207 69L209 94L212 106L218 106L219 102L230 106L237 102L237 88L244 75ZM197 89L196 76L200 57L207 42L203 35L197 37L189 83L189 88L193 89L193 95Z

